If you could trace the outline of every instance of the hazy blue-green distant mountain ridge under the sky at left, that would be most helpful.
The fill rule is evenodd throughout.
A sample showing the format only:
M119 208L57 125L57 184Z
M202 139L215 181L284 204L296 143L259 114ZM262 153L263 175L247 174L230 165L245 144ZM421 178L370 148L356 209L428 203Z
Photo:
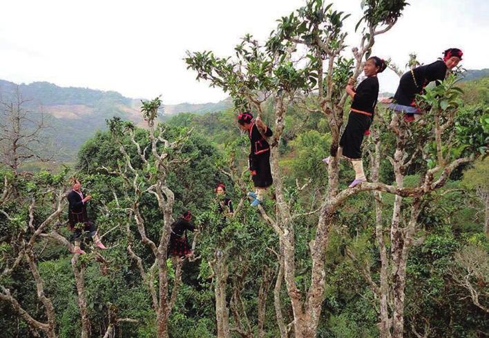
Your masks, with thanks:
M32 111L32 114L42 111L48 117L52 127L50 136L59 151L59 160L74 159L81 144L93 137L97 130L106 128L106 119L117 116L140 126L143 123L140 99L124 97L118 92L63 88L48 82L17 85L0 80L0 98L3 101L14 100L17 88L21 97L27 100L23 108ZM166 105L160 112L160 118L165 120L180 112L214 112L224 110L231 104L228 99L218 103Z

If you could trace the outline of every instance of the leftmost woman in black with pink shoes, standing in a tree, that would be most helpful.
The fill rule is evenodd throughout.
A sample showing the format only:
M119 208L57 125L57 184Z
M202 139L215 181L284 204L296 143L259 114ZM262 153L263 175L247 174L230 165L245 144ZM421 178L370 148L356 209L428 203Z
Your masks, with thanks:
M84 255L84 250L80 248L80 238L82 229L88 232L90 237L93 237L93 241L96 246L101 249L106 249L102 241L100 241L97 235L97 227L88 219L86 212L86 203L92 199L90 195L84 196L81 191L81 183L74 177L71 179L72 190L68 193L68 224L70 231L73 232L73 239L75 239L75 248L73 253Z

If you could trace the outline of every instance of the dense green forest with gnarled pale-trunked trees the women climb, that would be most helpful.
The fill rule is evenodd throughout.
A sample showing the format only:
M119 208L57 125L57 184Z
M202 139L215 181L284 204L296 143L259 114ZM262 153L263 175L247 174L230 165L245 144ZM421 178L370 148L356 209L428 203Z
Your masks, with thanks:
M40 126L16 124L22 106L2 101L12 119L1 126L17 138L1 137L1 336L487 337L489 77L461 81L457 68L426 87L417 122L378 103L367 181L349 188L352 166L321 159L347 123L348 79L408 3L362 6L354 32L349 14L308 0L233 55L187 51L189 72L233 108L163 122L164 101L142 101L144 126L106 119L74 166L22 170ZM387 62L401 76L416 55L405 68ZM274 132L274 185L258 207L244 111ZM71 177L92 196L106 250L85 232L86 254L72 253ZM193 254L174 257L172 223L187 210Z

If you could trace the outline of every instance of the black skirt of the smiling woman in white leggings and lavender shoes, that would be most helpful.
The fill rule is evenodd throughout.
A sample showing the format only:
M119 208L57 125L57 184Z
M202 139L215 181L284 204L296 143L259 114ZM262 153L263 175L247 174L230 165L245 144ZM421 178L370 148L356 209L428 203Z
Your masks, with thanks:
M359 112L349 112L348 123L340 140L344 157L348 159L362 158L363 134L365 130L370 128L370 124L372 124L372 117Z

